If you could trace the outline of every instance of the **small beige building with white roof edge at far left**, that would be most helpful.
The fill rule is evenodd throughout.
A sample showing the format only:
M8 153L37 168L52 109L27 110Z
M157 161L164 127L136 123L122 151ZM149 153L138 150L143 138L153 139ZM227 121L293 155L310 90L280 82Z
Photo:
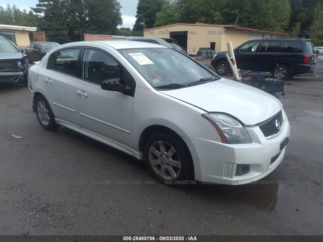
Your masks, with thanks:
M21 48L26 48L30 44L30 31L35 32L36 27L0 24L0 35L18 44Z

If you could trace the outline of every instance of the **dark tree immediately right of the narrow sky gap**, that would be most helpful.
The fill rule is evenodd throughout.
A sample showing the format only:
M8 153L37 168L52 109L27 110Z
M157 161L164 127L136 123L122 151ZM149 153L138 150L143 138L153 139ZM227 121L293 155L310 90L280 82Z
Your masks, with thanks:
M160 12L161 6L166 0L139 0L137 5L136 22L133 26L135 36L143 36L144 29L153 27L156 19L156 13Z

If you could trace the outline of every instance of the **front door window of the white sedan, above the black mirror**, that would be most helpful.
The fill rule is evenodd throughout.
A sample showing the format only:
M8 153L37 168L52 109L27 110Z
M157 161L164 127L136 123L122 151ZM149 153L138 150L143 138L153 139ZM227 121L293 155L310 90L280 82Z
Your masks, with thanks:
M96 49L85 49L82 57L82 78L97 84L121 77L119 64L108 54Z

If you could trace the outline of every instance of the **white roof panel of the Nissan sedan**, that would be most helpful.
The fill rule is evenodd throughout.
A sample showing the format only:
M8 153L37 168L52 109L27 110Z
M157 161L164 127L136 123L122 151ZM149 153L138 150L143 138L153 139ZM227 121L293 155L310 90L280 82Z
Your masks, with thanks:
M132 41L132 40L96 40L96 41L83 41L83 42L96 42L105 44L114 49L134 49L134 48L166 48L166 46L143 42L143 41Z

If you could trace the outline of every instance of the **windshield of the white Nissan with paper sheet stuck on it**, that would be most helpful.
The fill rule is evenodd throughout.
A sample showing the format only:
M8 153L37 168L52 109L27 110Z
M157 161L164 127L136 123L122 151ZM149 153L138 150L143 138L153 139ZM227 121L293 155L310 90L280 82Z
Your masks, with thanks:
M121 49L119 52L154 88L182 88L220 79L191 57L171 48Z

